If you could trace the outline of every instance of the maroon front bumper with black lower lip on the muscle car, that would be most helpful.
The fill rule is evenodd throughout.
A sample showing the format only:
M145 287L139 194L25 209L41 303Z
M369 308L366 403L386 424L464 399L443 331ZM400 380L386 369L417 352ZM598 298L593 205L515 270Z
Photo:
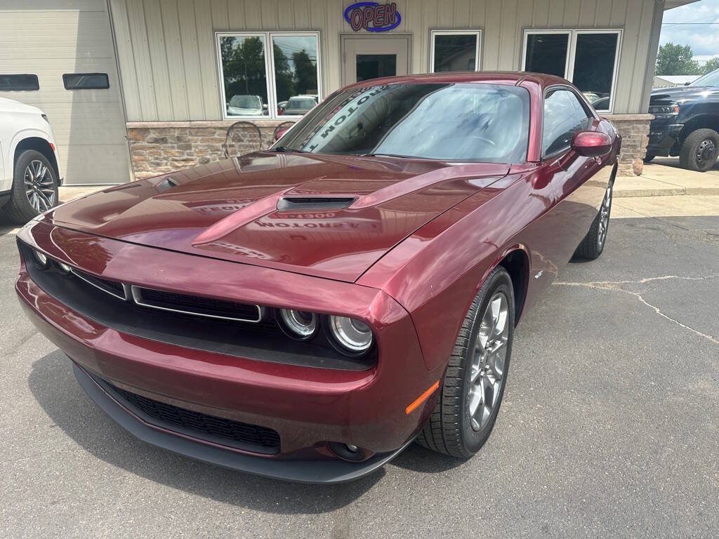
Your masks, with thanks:
M153 278L157 279L159 272L153 257L161 257L165 269L178 264L195 268L193 264L200 263L191 255L158 254L157 249L96 236L90 236L92 247L88 244L88 249L78 249L82 236L88 235L60 234L44 223L19 234L25 243L77 266L83 266L81 262L85 262L83 267L91 265L88 256L92 249L112 253L110 262L107 257L102 262L104 271L88 269L107 278L132 275L138 285L157 286ZM68 249L68 240L75 241L74 249ZM83 260L70 259L73 252ZM426 369L411 319L394 300L379 290L350 283L294 274L278 276L282 272L213 259L202 259L201 264L206 277L203 287L218 285L250 296L256 293L267 305L297 308L298 304L283 305L283 296L285 302L290 301L288 290L311 295L313 288L321 286L322 293L315 293L315 299L319 296L332 305L313 305L313 310L336 310L342 304L340 298L354 298L357 303L342 305L345 312L338 314L359 315L360 310L371 307L377 318L375 327L379 328L377 365L359 371L299 367L224 356L123 333L60 303L29 277L24 266L16 290L30 320L73 359L88 394L127 430L155 445L279 479L341 482L382 466L421 430L434 407L434 395L410 414L406 407L441 377L444 366ZM227 282L232 277L214 278L217 267L232 267L225 275L239 275L241 285ZM268 278L270 274L274 277ZM162 275L165 286L168 277L167 273ZM181 278L186 280L183 290L195 286L187 281L187 272ZM273 286L268 287L267 282ZM280 450L260 454L149 425L112 397L113 386L197 413L271 428L280 436ZM359 446L367 458L362 462L342 461L330 451L328 442Z

